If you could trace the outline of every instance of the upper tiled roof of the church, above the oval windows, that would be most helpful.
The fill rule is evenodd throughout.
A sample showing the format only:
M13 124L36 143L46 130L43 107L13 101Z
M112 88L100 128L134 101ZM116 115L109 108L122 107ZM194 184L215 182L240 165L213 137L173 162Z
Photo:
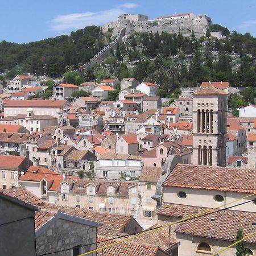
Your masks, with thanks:
M256 173L253 169L192 166L177 164L163 185L181 188L256 192Z

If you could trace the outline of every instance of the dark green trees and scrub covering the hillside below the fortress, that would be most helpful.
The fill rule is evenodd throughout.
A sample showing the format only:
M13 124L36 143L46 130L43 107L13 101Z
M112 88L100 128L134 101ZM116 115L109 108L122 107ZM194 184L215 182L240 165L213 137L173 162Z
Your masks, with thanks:
M226 38L212 37L214 31L222 31ZM254 101L256 38L249 33L230 32L218 24L211 25L201 38L196 38L193 31L191 37L167 32L134 33L100 64L83 73L73 72L111 42L111 36L112 30L103 34L100 27L90 26L70 36L28 44L3 41L0 43L0 72L7 72L7 75L2 79L27 72L64 76L66 82L74 84L135 77L139 82L158 84L160 97L172 97L175 89L199 86L202 81L229 81L233 86L252 88L252 93L243 100Z

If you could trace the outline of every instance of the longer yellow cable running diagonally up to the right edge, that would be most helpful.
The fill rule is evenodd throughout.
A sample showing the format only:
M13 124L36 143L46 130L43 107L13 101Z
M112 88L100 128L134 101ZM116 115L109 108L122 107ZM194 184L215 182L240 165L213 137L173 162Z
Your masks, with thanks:
M156 232L156 231L158 231L158 230L167 228L168 226L172 226L172 225L178 224L178 223L183 222L183 221L191 220L192 218L199 217L199 216L201 216L201 215L203 215L203 214L213 212L214 210L217 210L217 209L219 209L219 208L221 208L221 207L224 207L224 206L226 206L226 205L230 205L230 204L236 203L237 201L240 201L240 200L246 199L247 197L255 196L255 195L256 195L256 193L253 193L253 194L248 195L248 196L244 196L244 197L242 197L241 199L234 200L234 201L232 201L232 202L229 202L228 204L222 204L222 205L220 205L219 207L212 208L212 209L209 209L209 210L205 210L204 212L197 213L197 214L192 215L192 216L189 216L189 217L187 217L187 218L183 218L182 220L175 221L175 222L171 222L171 223L166 224L166 225L164 225L164 226L160 226L160 227L157 228L157 229L148 230L148 231L146 231L146 232L143 232L143 233L141 233L141 234L135 235L135 236L133 236L133 237L126 238L125 240L118 241L118 242L112 243L112 244L110 244L110 245L105 245L105 246L103 246L103 247L94 249L94 250L92 250L92 251L88 251L88 253L80 254L79 256L89 255L89 254L91 254L91 253L95 253L96 251L104 250L104 249L107 249L107 248L109 248L109 247L112 247L112 246L115 246L115 245L119 245L120 243L134 240L134 239L136 239L136 238L138 238L138 237L142 237L142 236L144 236L144 235L146 235L146 234L148 234L148 233L153 233L153 232ZM108 241L108 240L106 240L106 241Z

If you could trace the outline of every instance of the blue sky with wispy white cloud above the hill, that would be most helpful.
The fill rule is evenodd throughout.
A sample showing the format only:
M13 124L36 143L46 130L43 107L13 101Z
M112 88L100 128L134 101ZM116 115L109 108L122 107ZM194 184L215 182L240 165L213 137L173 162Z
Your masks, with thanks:
M255 0L2 0L0 41L27 43L116 20L121 13L150 19L175 13L206 14L212 23L256 36Z

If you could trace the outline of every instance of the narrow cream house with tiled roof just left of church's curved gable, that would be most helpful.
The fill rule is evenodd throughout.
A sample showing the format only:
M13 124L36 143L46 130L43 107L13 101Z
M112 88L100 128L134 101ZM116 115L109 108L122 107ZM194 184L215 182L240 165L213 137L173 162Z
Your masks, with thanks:
M139 195L141 195L141 205L139 209L140 218L156 219L156 209L160 206L160 201L152 199L156 195L156 185L162 175L162 167L143 167L139 177Z

